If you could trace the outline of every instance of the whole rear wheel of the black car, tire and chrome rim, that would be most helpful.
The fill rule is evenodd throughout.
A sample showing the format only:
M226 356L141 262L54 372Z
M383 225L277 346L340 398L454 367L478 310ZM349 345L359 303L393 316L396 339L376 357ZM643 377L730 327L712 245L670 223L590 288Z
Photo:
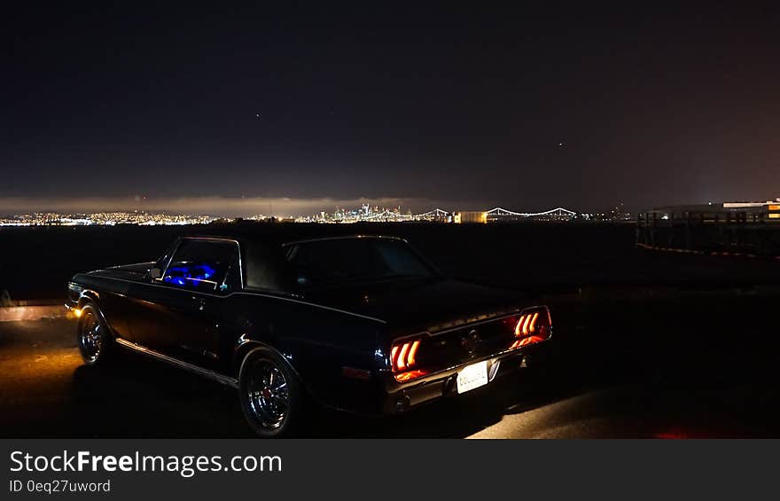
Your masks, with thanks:
M261 437L292 434L302 420L300 381L290 364L268 348L253 349L244 358L238 374L238 398L246 421Z

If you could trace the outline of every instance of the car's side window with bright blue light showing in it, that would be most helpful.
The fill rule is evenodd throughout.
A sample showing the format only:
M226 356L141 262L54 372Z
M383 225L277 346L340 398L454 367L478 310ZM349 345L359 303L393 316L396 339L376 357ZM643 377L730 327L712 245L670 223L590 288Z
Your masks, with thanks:
M230 292L241 287L238 245L226 240L183 239L162 281L202 292Z

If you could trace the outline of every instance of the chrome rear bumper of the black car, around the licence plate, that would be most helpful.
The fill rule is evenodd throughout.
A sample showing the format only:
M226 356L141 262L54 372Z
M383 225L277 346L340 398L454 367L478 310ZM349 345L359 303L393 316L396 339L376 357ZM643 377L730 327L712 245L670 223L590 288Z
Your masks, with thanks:
M408 383L397 383L393 379L388 384L388 391L382 404L382 412L384 414L400 414L423 403L458 395L456 385L458 372L467 365L487 360L487 385L472 390L473 392L482 391L493 386L496 379L516 373L523 365L527 356L532 356L538 351L546 349L548 343L549 341L542 341L527 348L513 349L495 356L475 358L468 363L456 365ZM389 377L392 379L392 376Z

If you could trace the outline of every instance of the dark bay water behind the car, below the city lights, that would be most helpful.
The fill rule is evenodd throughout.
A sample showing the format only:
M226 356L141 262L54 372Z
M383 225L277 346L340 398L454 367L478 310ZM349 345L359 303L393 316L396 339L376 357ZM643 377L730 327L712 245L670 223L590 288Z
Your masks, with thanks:
M253 225L258 234L278 231ZM633 224L431 223L285 224L285 233L401 236L445 272L538 292L590 286L749 286L780 282L780 262L668 254L636 248ZM156 259L179 235L207 227L42 227L0 229L0 290L12 299L57 299L74 273Z

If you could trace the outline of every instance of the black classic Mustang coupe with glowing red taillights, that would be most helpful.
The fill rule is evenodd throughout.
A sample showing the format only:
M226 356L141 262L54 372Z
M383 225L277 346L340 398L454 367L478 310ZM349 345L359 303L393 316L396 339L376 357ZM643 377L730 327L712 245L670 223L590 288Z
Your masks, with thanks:
M257 434L304 401L393 414L478 387L550 339L550 311L444 277L403 239L176 239L154 262L77 274L85 364L119 348L238 389Z

